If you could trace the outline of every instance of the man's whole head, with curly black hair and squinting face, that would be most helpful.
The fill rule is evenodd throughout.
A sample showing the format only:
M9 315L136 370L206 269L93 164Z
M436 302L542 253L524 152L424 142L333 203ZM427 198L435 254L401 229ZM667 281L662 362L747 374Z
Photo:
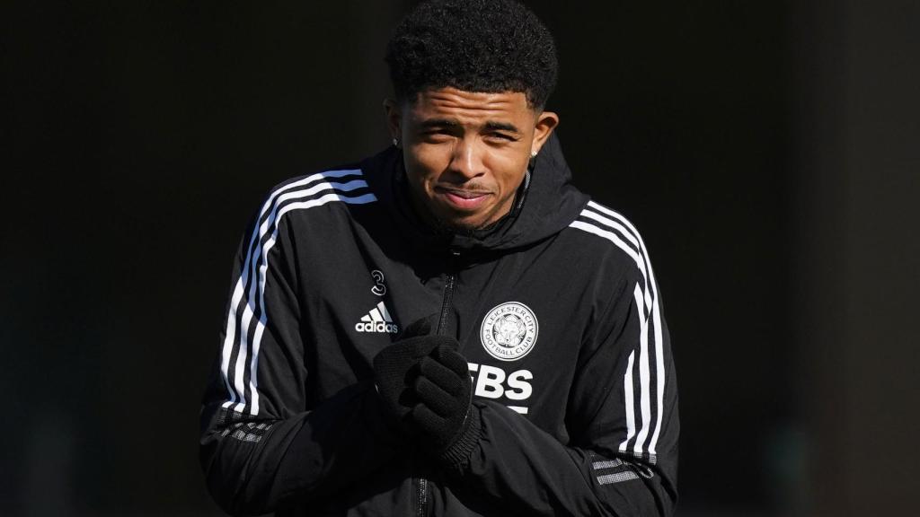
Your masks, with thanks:
M498 221L558 124L543 110L552 36L512 0L433 0L403 19L386 62L397 95L387 120L416 209L454 231Z

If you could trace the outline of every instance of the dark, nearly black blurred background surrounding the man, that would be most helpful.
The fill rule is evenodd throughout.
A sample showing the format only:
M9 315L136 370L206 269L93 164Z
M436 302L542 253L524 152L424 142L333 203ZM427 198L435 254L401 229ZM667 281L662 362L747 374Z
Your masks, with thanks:
M407 5L0 7L0 514L219 514L198 410L237 239L388 144ZM661 282L679 514L908 512L920 4L530 5L576 182Z

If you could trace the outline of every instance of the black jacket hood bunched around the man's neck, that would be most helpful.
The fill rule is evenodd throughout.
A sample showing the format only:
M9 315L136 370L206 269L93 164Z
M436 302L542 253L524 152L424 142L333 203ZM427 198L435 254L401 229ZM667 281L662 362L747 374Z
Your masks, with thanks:
M575 220L589 199L571 184L571 170L555 133L529 167L512 212L473 235L438 232L420 219L408 199L402 151L396 147L390 146L363 162L362 170L378 200L411 240L476 254L528 247L554 236Z

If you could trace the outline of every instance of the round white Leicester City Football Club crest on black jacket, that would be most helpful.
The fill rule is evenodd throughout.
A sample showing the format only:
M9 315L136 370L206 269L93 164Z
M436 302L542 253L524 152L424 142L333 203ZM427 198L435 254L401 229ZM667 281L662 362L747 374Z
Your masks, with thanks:
M534 350L539 327L534 311L518 302L500 304L482 318L479 339L489 355L515 361Z

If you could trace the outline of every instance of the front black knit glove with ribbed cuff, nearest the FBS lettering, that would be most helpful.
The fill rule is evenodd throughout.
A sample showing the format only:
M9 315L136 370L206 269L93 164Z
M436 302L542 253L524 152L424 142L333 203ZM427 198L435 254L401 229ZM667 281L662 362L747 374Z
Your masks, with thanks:
M480 430L466 359L454 347L439 345L421 358L412 388L418 403L410 419L429 450L449 464L464 463Z

